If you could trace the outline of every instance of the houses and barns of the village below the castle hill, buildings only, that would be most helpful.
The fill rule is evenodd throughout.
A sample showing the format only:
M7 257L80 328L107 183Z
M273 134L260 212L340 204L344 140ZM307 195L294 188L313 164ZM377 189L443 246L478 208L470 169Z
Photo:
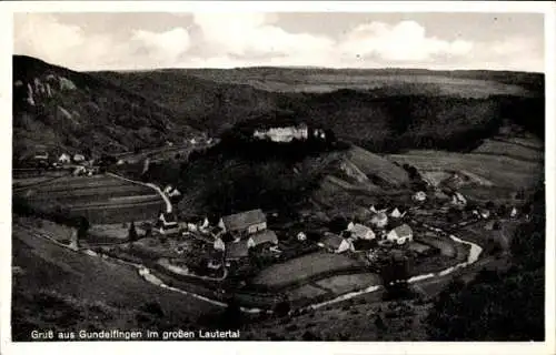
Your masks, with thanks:
M165 193L169 196L179 195L179 191L167 186ZM427 194L423 191L413 195L415 202L424 202ZM448 197L449 199L449 197ZM454 193L451 205L463 207L467 204L465 196ZM331 253L348 251L369 252L377 245L406 245L419 247L414 242L414 231L405 223L407 211L400 206L384 207L371 205L365 222L349 222L339 233L326 232L318 245ZM510 217L517 217L517 210L513 207ZM488 210L475 210L478 219L489 219ZM216 222L216 221L214 221ZM488 227L496 229L495 222ZM207 217L198 223L179 223L173 213L162 212L159 215L158 232L162 235L196 235L212 245L209 267L218 270L225 262L246 258L249 251L259 245L266 245L270 251L280 253L276 233L268 229L267 217L260 209L245 211L222 216L217 223L210 223ZM297 234L298 241L307 240L304 232ZM419 251L417 251L419 252Z

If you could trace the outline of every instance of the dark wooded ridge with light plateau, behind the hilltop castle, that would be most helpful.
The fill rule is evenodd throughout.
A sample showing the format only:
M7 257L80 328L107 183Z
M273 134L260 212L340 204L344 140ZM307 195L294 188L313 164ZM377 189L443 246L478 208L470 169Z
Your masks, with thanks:
M543 135L544 75L522 72L245 68L91 73L219 134L237 122L326 126L376 152L470 149L502 124Z

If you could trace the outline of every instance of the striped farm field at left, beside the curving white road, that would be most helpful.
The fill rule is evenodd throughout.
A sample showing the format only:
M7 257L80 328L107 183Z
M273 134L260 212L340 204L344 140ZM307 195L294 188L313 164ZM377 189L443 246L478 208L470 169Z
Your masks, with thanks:
M165 207L157 191L113 176L62 176L51 183L14 191L42 211L64 209L91 224L153 220Z

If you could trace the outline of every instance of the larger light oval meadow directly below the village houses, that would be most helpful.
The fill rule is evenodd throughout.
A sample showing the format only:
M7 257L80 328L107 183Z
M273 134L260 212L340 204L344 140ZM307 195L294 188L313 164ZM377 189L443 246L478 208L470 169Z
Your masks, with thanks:
M286 286L302 282L312 276L349 270L361 264L346 255L317 252L262 270L252 281L254 284L269 287Z

